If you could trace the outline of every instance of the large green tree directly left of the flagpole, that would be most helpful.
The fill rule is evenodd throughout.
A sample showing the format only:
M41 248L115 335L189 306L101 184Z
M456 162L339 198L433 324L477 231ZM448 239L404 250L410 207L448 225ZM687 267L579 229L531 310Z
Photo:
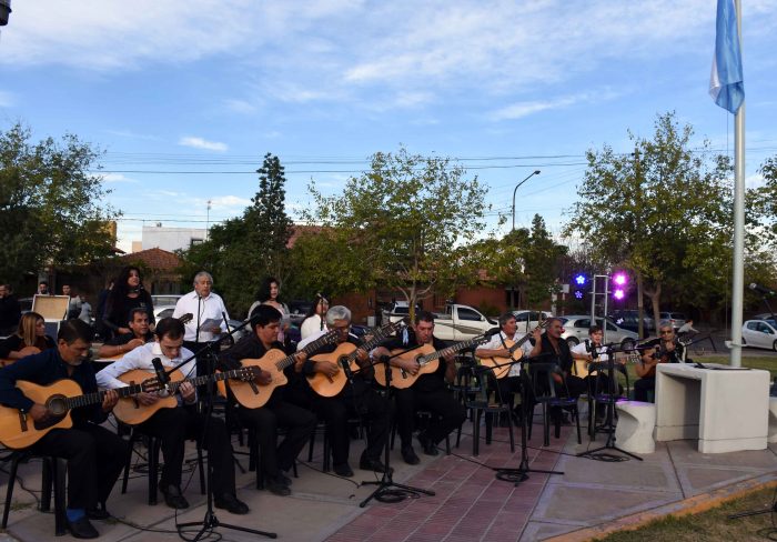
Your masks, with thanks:
M690 126L660 114L652 139L629 132L634 154L589 150L579 201L566 233L612 265L634 271L657 318L662 298L720 303L730 274L731 187L725 160Z

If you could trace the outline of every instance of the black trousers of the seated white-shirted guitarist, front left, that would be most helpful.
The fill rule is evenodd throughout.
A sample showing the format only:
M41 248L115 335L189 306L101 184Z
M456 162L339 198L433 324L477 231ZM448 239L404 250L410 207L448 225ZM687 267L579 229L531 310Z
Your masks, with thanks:
M208 426L204 442L200 442L203 429ZM224 421L200 414L193 406L161 409L149 420L138 425L142 432L162 440L164 466L160 484L181 485L181 469L188 439L195 439L208 450L213 471L213 493L234 494L234 461L232 444Z

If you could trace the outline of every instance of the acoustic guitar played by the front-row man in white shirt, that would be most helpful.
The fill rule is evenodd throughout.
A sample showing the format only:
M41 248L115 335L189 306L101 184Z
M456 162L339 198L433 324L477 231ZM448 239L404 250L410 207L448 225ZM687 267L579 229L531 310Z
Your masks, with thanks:
M119 377L119 380L124 382L127 388L117 388L118 392L122 392L128 388L137 388L135 382L141 382L143 387L142 391L161 391L167 388L168 394L160 397L159 400L153 404L140 404L135 398L127 398L125 395L130 393L123 393L120 395L119 402L113 408L113 415L127 423L128 425L137 425L143 423L145 420L151 418L160 409L174 409L178 406L178 399L175 398L175 392L184 382L191 382L192 385L198 387L208 383L213 380L215 382L223 381L226 379L243 379L252 380L259 377L259 370L254 367L243 367L240 369L234 369L232 371L216 372L215 374L204 374L202 377L194 377L191 379L184 379L183 373L179 370L173 371L170 374L170 382L167 387L160 385L157 377L153 373L145 371L143 369L133 369L132 371L127 371L124 374ZM141 391L141 390L138 390ZM137 391L135 391L137 393Z

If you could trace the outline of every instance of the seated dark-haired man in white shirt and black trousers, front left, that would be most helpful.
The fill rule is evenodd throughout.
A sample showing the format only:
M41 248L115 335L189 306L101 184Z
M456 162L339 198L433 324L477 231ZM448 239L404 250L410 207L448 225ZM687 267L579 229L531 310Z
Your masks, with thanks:
M108 365L97 374L101 388L115 389L127 384L118 378L128 371L140 369L149 372L149 378L154 375L152 360L159 358L162 365L171 369L184 359L192 358L192 353L182 348L183 323L174 318L163 318L157 323L154 330L155 342L150 342L134 349L121 360ZM194 378L196 362L190 359L179 370L185 379ZM226 426L221 419L206 418L199 413L194 406L196 394L190 382L183 382L179 387L181 392L179 404L175 408L163 408L157 411L147 421L140 423L138 429L150 435L162 439L162 455L164 468L160 481L160 489L164 494L164 502L172 509L186 509L189 502L181 492L181 469L186 439L200 439L203 428L208 423L205 442L203 448L210 454L210 464L213 468L213 495L216 508L226 509L233 514L248 514L249 506L238 500L235 495L234 460L232 445ZM152 406L159 401L158 393L141 392L135 395L137 401L143 406Z

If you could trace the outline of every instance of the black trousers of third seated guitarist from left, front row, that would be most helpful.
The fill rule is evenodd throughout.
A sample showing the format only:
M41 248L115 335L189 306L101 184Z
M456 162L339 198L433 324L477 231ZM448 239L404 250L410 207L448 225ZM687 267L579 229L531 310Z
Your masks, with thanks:
M266 478L287 471L315 430L315 414L287 401L274 401L261 409L238 406L238 418L245 428L253 428L260 451L260 468ZM286 435L278 444L278 430Z

